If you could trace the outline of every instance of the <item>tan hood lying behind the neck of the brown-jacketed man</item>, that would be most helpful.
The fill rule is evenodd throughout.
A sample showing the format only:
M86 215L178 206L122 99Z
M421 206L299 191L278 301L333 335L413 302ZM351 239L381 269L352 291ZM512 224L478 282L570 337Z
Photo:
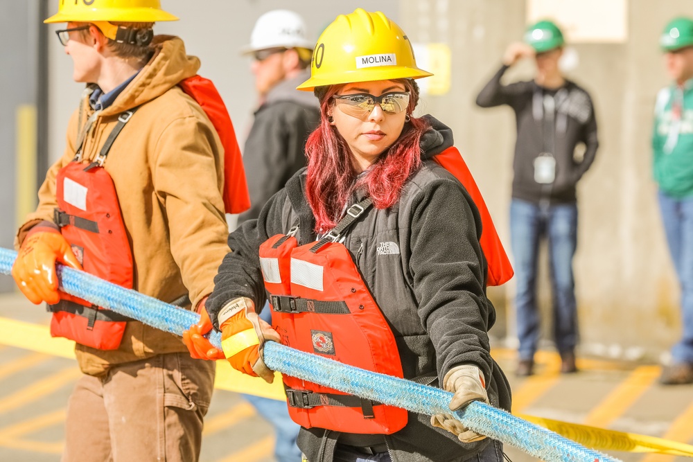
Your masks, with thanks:
M139 71L137 77L125 87L102 116L143 105L172 89L181 80L192 77L200 69L200 60L185 53L182 39L172 35L157 35L152 40L154 55Z

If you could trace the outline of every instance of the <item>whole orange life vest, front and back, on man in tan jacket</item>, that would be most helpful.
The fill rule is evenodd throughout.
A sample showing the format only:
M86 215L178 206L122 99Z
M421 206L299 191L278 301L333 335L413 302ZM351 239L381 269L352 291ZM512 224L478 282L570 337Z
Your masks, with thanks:
M225 152L223 197L227 213L246 211L250 199L243 162L234 126L221 96L211 80L200 75L183 80L179 86L202 107L222 142ZM133 288L132 250L118 194L103 163L116 136L135 111L137 108L119 116L96 161L87 166L81 162L78 151L75 161L60 169L56 177L58 208L54 213L55 224L85 272L127 289ZM187 300L187 296L182 299ZM129 320L64 293L61 293L61 301L50 305L49 310L53 312L53 337L67 337L100 350L114 350L120 346Z

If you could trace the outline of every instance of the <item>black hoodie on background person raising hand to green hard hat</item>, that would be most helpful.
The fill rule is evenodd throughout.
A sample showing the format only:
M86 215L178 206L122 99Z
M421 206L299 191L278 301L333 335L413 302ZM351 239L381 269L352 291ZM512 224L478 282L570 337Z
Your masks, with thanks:
M556 91L549 91L534 81L502 85L500 79L508 66L502 66L477 96L480 107L509 105L517 123L517 140L513 162L513 197L538 203L576 202L575 186L590 168L597 154L597 121L592 100L587 92L570 80ZM556 93L556 114L547 122L543 111L543 95ZM552 130L554 127L554 130ZM554 138L555 134L555 138ZM585 144L582 159L575 159L575 147ZM534 159L542 152L551 152L556 159L553 184L534 181Z

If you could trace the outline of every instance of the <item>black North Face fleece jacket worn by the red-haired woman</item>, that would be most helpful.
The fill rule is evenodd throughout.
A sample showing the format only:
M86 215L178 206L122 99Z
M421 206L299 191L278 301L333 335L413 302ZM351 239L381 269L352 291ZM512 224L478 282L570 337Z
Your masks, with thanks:
M437 386L453 366L476 364L486 376L491 404L510 409L509 384L489 354L487 332L495 323L495 309L486 298L480 216L462 184L428 160L453 143L448 127L429 121L436 130L422 140L423 166L407 181L399 202L387 210L371 207L352 225L344 245L394 332L405 378L433 375L431 384ZM256 307L265 303L258 260L262 242L295 224L299 245L315 240L305 179L301 170L258 220L245 222L229 236L233 251L220 266L207 301L215 326L218 311L231 299L247 296ZM356 193L354 200L361 198ZM383 244L388 252L378 252ZM407 426L386 437L301 429L299 447L309 461L324 462L331 460L337 439L372 446L382 445L384 438L395 462L464 461L489 443L460 443L431 427L430 417L410 413Z

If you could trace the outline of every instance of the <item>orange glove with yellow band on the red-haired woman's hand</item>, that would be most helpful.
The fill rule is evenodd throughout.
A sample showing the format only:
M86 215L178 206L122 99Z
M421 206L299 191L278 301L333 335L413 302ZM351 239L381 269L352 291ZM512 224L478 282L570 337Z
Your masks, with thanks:
M272 383L274 372L265 365L262 348L265 341L280 341L279 334L255 312L251 299L238 297L229 301L218 314L221 346L231 367L262 377Z

